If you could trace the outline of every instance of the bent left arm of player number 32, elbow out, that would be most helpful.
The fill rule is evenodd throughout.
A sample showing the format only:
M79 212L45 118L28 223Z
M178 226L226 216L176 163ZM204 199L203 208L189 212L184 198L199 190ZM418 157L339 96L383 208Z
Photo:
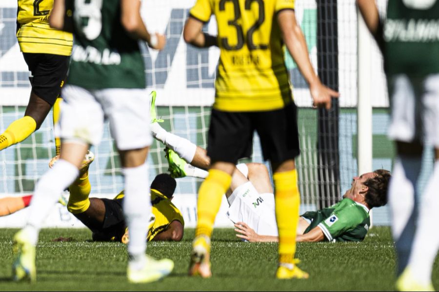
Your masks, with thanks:
M184 41L199 48L218 47L217 37L204 33L203 25L202 21L189 16L183 29Z

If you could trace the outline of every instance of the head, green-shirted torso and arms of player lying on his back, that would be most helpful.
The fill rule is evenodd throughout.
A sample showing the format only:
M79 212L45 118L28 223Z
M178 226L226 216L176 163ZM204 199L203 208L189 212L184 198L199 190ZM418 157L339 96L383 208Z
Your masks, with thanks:
M329 208L299 217L297 241L362 241L370 227L369 210L387 203L390 173L384 169L354 177L343 199ZM279 241L277 236L258 234L248 224L237 222L237 237L250 242Z

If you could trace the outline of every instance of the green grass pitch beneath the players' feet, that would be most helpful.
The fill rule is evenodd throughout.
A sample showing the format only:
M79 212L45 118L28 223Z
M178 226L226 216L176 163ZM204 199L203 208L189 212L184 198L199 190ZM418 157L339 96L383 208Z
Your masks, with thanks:
M12 237L0 232L0 291L391 291L395 252L390 229L373 228L362 243L299 243L299 265L308 280L276 280L276 243L244 243L233 229L216 229L210 279L188 277L193 229L180 242L150 242L149 255L175 261L173 273L152 284L128 284L121 243L91 242L86 229L44 229L37 247L37 283L11 280ZM58 237L70 241L56 242ZM434 285L439 287L436 261Z

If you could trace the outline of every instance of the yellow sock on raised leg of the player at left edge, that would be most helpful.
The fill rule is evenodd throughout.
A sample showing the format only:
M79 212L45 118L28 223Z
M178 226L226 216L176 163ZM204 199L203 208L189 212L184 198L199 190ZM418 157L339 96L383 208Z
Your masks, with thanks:
M0 150L20 143L29 137L36 128L37 122L30 116L24 116L12 122L4 133L0 135Z

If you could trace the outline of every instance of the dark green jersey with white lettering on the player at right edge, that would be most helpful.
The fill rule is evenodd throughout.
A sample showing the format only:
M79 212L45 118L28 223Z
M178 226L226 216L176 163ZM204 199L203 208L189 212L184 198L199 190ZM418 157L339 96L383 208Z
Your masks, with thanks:
M439 73L439 0L389 0L383 39L387 75Z

